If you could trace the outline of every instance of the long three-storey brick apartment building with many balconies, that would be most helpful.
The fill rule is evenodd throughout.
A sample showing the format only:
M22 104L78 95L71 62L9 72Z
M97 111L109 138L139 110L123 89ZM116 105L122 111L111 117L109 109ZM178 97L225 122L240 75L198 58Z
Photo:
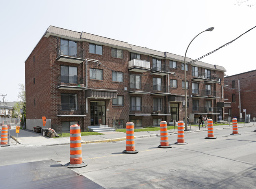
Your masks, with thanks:
M27 128L41 126L42 116L64 131L74 123L83 131L184 120L182 62L169 52L50 26L25 61ZM201 61L186 70L188 115L222 120L226 70Z

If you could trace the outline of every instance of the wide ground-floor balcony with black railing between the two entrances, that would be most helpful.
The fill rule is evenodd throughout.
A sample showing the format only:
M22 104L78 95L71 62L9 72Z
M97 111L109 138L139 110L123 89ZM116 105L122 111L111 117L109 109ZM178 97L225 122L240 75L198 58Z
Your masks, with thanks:
M168 106L130 106L130 116L159 116L171 115Z

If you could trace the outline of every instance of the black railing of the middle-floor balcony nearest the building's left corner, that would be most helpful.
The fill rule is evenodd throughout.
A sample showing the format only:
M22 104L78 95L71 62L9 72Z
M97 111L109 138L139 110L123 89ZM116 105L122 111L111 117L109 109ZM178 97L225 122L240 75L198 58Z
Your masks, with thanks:
M85 77L77 76L77 75L59 75L57 76L58 85L61 83L65 83L65 85L69 86L78 86L85 83Z

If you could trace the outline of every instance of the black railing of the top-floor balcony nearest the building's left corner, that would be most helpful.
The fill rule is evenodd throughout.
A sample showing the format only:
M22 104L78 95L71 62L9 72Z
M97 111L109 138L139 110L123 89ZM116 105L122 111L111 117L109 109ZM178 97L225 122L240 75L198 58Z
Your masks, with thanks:
M83 48L60 44L57 47L57 57L58 56L69 56L85 59L85 50Z

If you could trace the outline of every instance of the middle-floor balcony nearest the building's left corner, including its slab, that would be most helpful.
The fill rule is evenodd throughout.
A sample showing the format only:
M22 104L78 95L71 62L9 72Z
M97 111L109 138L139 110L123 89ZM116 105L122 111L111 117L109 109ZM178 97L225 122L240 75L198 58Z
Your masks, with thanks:
M82 91L85 89L85 77L74 75L59 75L57 76L57 89L66 89L74 91Z

